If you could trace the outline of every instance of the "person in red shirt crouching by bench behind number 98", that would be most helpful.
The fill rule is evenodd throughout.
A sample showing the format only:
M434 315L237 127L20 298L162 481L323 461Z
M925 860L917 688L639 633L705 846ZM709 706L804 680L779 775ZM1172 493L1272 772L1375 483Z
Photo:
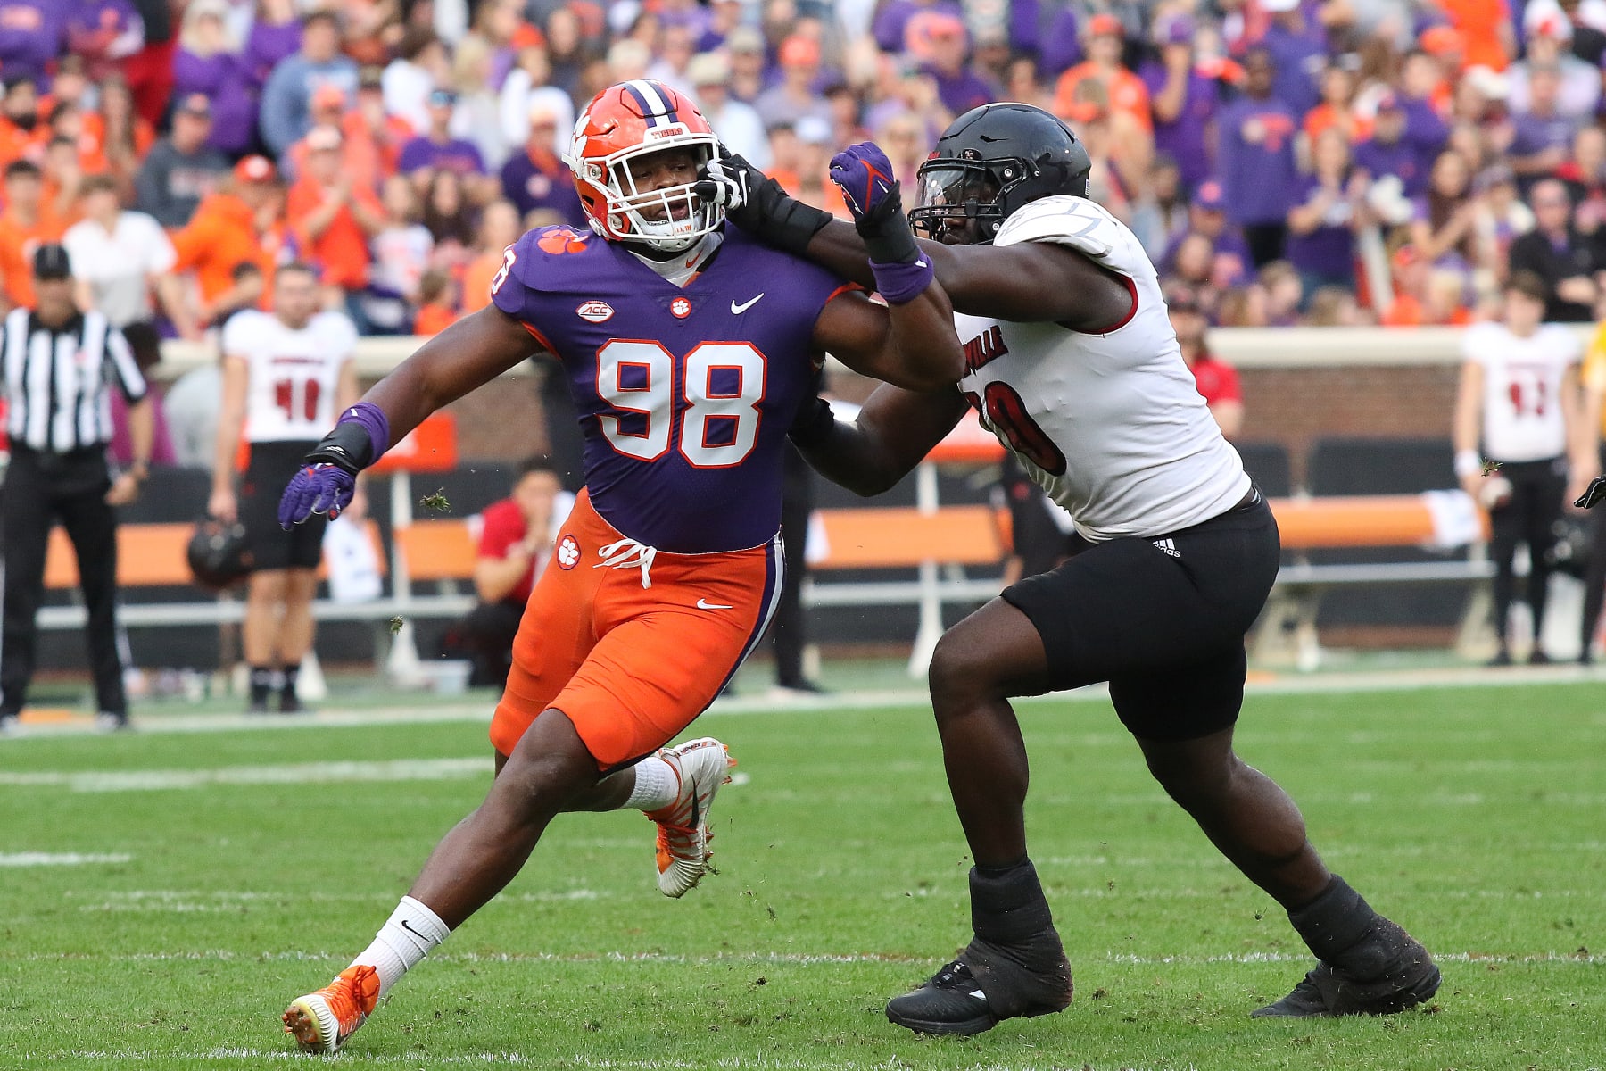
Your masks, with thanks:
M480 546L474 562L479 604L453 625L442 655L474 660L474 687L504 687L512 666L512 637L535 581L552 557L557 527L572 501L546 458L530 458L514 474L512 495L480 514Z

